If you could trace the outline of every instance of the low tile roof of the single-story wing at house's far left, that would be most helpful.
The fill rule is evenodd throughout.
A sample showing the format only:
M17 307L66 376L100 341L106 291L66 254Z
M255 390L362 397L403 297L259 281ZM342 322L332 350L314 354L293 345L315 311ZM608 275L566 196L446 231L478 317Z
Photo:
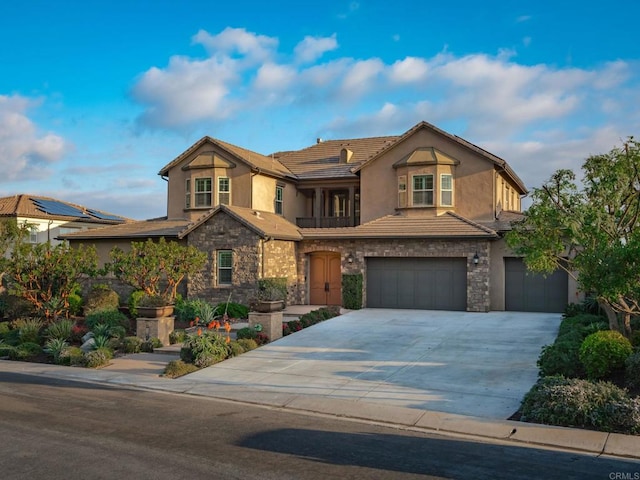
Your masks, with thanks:
M142 220L122 225L110 227L94 228L83 230L82 232L61 235L60 238L69 240L84 240L97 238L178 238L180 232L185 230L189 220L177 219L167 220L166 218Z

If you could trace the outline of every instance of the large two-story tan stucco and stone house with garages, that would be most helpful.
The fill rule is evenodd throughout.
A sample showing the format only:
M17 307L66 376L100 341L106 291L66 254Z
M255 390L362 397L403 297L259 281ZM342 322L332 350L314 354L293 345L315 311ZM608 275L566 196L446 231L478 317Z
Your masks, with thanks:
M103 260L140 238L194 245L209 260L188 295L211 301L286 277L289 303L341 304L343 274L362 274L378 308L561 311L575 293L505 246L527 192L507 162L426 122L268 156L204 137L159 174L167 219L67 238Z

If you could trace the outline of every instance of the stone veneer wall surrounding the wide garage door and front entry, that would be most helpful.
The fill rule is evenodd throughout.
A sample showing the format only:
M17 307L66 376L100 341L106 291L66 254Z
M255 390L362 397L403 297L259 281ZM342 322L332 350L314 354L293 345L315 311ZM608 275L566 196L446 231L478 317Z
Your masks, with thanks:
M422 240L422 239L363 239L363 240L303 240L298 249L297 302L307 303L306 277L309 270L307 254L316 251L340 252L342 273L363 273L364 304L367 301L367 257L466 257L467 258L467 310L486 312L490 308L489 296L489 242L487 240ZM478 265L473 256L478 253ZM347 261L348 255L353 263Z

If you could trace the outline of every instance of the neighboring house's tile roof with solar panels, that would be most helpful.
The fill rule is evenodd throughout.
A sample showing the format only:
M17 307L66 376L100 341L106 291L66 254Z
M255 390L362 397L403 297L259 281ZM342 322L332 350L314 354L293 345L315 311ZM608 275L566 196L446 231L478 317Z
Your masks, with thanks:
M79 215L63 215L52 214L47 212L42 205L56 205L60 207L69 207L68 211L81 212ZM65 202L51 197L43 197L40 195L19 194L10 197L0 198L0 217L27 217L42 218L53 220L81 221L86 223L100 223L105 225L119 224L123 222L132 222L133 220L121 215L87 208L83 205ZM106 218L105 218L106 217Z

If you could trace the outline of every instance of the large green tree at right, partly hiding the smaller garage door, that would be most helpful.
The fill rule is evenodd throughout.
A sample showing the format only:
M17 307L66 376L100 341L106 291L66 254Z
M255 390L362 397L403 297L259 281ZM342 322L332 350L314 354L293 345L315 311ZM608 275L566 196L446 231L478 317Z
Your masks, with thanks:
M629 336L631 317L640 314L640 144L629 137L589 157L582 170L580 186L572 171L558 170L533 189L507 243L532 271L577 276L610 328Z

